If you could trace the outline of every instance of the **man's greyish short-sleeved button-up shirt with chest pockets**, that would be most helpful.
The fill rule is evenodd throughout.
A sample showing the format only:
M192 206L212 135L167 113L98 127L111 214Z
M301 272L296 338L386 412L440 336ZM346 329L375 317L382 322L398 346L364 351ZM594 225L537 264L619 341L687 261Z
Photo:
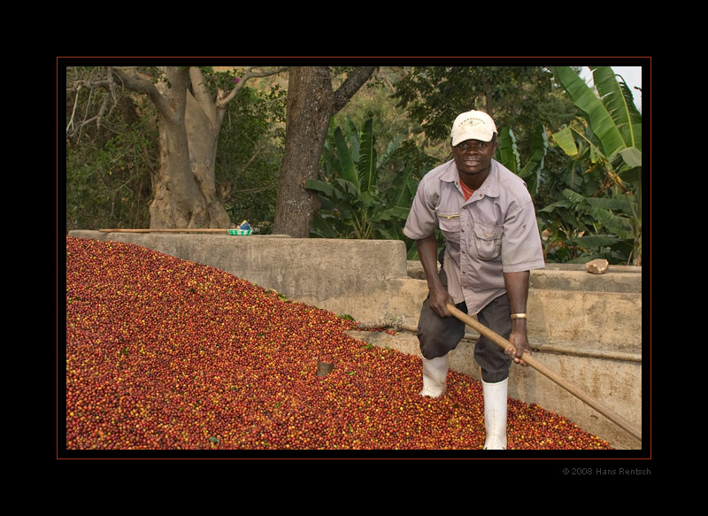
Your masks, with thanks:
M423 176L404 235L420 240L437 227L447 241L448 291L455 303L466 302L470 315L504 294L503 273L545 266L526 183L495 160L467 201L454 160Z

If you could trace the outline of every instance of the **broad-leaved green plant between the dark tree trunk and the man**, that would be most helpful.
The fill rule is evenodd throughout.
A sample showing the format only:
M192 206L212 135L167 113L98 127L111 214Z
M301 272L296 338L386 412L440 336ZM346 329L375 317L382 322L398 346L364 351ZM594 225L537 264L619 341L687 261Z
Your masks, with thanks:
M431 162L402 136L379 156L373 119L366 119L361 131L351 117L346 122L346 134L341 127L331 131L321 177L305 183L317 190L321 204L312 235L403 240L420 173L427 172Z

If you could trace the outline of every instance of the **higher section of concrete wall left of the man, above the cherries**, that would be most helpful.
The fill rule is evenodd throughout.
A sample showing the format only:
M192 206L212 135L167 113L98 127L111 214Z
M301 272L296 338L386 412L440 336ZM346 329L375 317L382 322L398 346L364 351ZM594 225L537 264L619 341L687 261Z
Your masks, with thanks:
M286 297L327 298L332 289L408 276L405 244L393 240L299 239L279 235L135 234L71 231L70 236L135 243L214 266ZM334 284L333 284L334 281Z

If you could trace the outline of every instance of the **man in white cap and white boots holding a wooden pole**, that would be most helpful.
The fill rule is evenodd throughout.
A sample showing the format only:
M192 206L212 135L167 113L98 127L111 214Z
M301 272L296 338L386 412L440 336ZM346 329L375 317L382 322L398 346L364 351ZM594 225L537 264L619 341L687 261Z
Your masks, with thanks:
M485 112L465 112L451 130L453 159L420 181L404 234L417 241L429 295L420 312L418 338L423 355L422 396L446 389L448 352L465 335L452 317L454 304L510 340L503 350L481 337L474 358L481 366L486 440L484 448L506 448L506 397L512 360L529 350L527 295L531 269L542 268L543 248L526 184L492 157L496 126ZM446 247L437 270L435 229ZM523 365L523 364L522 364Z

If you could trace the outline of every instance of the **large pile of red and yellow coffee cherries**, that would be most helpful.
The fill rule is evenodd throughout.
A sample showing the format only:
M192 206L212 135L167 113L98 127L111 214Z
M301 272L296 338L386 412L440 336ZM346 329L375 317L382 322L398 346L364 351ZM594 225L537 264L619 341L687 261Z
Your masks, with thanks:
M420 397L419 358L351 329L211 266L67 237L66 449L481 449L478 381L450 371L445 397ZM508 441L609 449L514 399Z

